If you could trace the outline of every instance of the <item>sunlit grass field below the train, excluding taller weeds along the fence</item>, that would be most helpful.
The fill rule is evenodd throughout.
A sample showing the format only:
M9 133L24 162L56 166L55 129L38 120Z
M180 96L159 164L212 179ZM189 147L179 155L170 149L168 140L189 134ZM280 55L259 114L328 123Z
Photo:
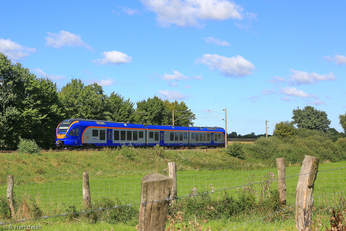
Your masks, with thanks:
M114 155L113 152L116 152ZM84 156L81 156L82 155ZM211 198L222 201L224 193L237 197L245 190L251 191L257 200L261 197L265 183L257 183L269 179L268 172L272 172L276 178L277 169L274 163L265 161L239 160L225 155L220 149L206 150L169 150L164 153L151 153L144 150L136 156L134 161L124 162L119 150L105 150L103 152L66 152L47 153L42 156L16 156L17 166L11 164L4 167L6 172L15 173L14 193L17 200L22 197L32 197L43 211L43 215L65 213L70 206L75 206L76 211L82 211L82 169L90 172L90 190L92 202L100 201L104 197L117 198L120 204L134 204L140 202L140 181L149 172L166 174L167 163L177 162L177 186L178 196L187 196L193 193L211 192ZM151 155L150 155L151 154ZM12 154L13 157L13 154ZM65 158L67 157L67 158ZM88 158L89 157L89 158ZM7 156L8 163L12 163L11 156ZM98 159L96 161L95 159ZM86 163L82 163L86 160ZM146 165L140 161L145 160ZM25 161L25 163L22 163ZM107 164L107 161L109 163ZM21 164L18 164L21 163ZM122 171L120 166L122 163ZM3 164L3 162L1 163ZM32 165L32 166L31 166ZM49 165L56 167L48 170ZM295 188L298 181L300 163L286 163L286 190L287 207L295 204ZM31 166L31 167L29 167ZM39 168L44 174L35 174ZM194 169L199 166L198 169ZM209 169L203 169L209 167ZM327 211L330 207L339 206L340 198L346 188L346 162L321 163L317 180L315 181L314 209L318 214ZM74 168L74 170L73 170ZM338 169L336 169L338 168ZM26 169L28 171L26 171ZM47 170L46 170L47 169ZM114 169L114 170L113 170ZM135 169L137 169L135 171ZM335 170L330 170L335 169ZM65 172L63 172L65 170ZM112 170L112 171L111 171ZM17 173L17 174L16 174ZM26 174L23 174L26 173ZM61 174L65 173L65 174ZM6 178L0 179L0 195L6 195ZM21 176L19 176L21 175ZM24 176L23 176L24 175ZM196 188L195 191L192 191ZM229 188L222 190L224 188ZM270 185L271 190L277 189L277 182ZM270 190L266 190L268 193ZM31 195L31 196L28 196ZM133 206L138 210L138 206ZM246 216L239 214L223 219L210 220L212 230L224 230L240 225L241 230L294 230L294 208L285 211L285 218L272 215L261 219L264 215L250 213ZM191 218L186 218L187 220ZM259 219L255 222L253 220ZM183 223L187 225L188 221ZM327 219L324 219L326 222ZM91 224L81 218L67 219L66 217L51 218L47 220L32 221L30 224L41 224L43 230L135 230L138 221L132 219L128 222L117 224L109 222L96 222ZM246 222L248 224L243 225ZM206 226L206 227L207 227ZM1 230L1 227L0 227Z

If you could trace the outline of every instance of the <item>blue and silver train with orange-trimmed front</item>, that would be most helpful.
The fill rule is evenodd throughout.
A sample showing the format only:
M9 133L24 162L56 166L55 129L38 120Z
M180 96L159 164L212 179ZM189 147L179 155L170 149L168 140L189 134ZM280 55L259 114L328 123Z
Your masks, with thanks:
M222 147L225 129L144 125L103 120L68 119L56 129L56 146L61 148L134 147Z

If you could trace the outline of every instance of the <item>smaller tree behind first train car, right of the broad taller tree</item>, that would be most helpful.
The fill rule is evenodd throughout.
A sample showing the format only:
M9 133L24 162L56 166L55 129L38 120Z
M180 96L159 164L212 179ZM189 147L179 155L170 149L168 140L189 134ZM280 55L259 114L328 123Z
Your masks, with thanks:
M107 120L115 122L129 121L131 123L135 121L134 103L130 99L125 100L124 96L112 92L109 97L106 97L105 104L104 116Z

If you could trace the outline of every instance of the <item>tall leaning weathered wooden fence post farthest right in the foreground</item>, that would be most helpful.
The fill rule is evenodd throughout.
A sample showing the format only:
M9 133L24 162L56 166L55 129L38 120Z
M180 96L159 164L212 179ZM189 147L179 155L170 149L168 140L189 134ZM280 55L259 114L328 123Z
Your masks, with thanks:
M305 156L300 168L297 191L295 193L295 227L298 231L311 230L313 205L313 184L318 170L319 158Z

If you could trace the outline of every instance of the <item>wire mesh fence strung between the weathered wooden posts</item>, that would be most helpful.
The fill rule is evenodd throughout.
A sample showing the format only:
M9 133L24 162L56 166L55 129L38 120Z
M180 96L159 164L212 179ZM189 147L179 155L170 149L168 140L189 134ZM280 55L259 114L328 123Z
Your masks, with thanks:
M201 195L210 195L212 198L220 199L224 194L237 196L240 193L252 193L257 200L263 192L277 190L277 169L272 168L273 163L268 163L267 169L248 171L225 171L210 174L206 171L192 171L182 169L177 171L177 200L183 198L196 198ZM285 230L295 226L295 209L299 205L295 201L295 190L297 188L300 174L300 166L297 163L286 162L286 201L287 204L279 211L253 219L235 219L228 224L224 230ZM299 162L298 162L299 164ZM235 166L232 166L235 167ZM231 169L231 167L230 167ZM187 172L188 171L188 172ZM164 173L165 171L159 171ZM118 173L118 172L117 172ZM145 172L142 172L145 174ZM111 176L114 173L107 173ZM116 174L114 174L116 175ZM94 175L103 176L103 173ZM82 177L82 175L81 175ZM110 177L90 179L91 200L97 201L101 198L117 198L119 204L112 207L100 208L100 210L116 209L124 206L139 207L142 177ZM13 187L16 200L21 197L32 196L38 205L46 208L44 214L47 216L32 219L45 219L68 214L88 213L83 210L82 179L75 181L56 182L16 182ZM267 187L267 188L265 188ZM0 195L6 195L7 183L0 183ZM320 163L315 190L313 193L313 225L326 225L329 220L329 210L332 208L344 208L344 193L346 190L346 165L331 163ZM167 198L166 200L170 200ZM308 199L307 199L308 200ZM152 203L152 202L146 202ZM302 202L300 202L302 203ZM78 205L77 213L65 213L65 205ZM95 211L95 210L91 210ZM318 216L317 216L318 215ZM21 222L9 221L1 224ZM221 230L221 229L220 229Z

